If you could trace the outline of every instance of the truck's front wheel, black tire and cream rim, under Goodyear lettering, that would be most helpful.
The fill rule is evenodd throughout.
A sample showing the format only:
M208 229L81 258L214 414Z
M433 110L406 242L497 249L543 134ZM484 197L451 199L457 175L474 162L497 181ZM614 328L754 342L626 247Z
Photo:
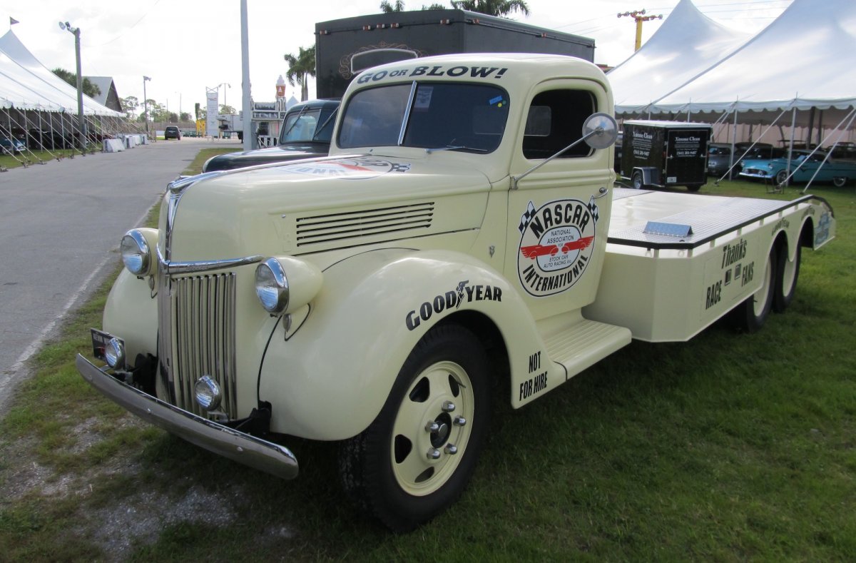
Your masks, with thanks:
M455 324L431 329L401 366L374 422L342 442L345 491L391 530L430 520L461 496L473 475L489 403L479 339ZM431 423L436 430L429 430ZM439 457L430 459L431 453Z

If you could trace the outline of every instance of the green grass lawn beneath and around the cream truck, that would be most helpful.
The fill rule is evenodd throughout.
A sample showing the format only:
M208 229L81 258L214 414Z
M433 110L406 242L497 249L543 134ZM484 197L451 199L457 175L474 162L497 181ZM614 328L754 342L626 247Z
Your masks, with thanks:
M633 342L519 411L495 394L467 492L406 535L343 501L331 444L289 441L301 472L284 482L89 388L74 353L106 282L0 422L0 559L856 560L856 194L812 193L838 237L803 252L786 313L752 335Z

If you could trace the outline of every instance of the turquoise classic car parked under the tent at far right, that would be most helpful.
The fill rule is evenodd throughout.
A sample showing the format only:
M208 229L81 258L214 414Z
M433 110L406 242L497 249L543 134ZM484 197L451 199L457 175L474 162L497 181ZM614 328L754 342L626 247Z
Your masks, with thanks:
M807 182L814 176L814 181L832 182L835 187L842 187L847 182L856 180L856 162L841 161L829 158L824 163L826 153L817 151L794 151L791 157L790 170L796 170L791 177L793 182ZM820 169L817 171L817 169ZM817 176L815 176L817 172ZM767 160L745 160L740 176L753 180L776 181L783 184L788 178L788 159L786 157Z

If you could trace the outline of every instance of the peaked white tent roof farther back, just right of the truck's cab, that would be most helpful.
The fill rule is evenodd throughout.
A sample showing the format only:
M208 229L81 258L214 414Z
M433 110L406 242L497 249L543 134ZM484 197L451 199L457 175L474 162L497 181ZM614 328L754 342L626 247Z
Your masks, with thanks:
M609 71L615 112L646 111L750 38L711 20L691 0L681 0L641 49Z

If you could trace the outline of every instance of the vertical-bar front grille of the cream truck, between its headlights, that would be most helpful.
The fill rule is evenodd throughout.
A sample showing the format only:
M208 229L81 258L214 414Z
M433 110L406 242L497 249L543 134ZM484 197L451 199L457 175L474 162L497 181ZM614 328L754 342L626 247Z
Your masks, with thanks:
M172 401L205 416L193 398L193 383L208 375L223 392L220 409L237 418L235 274L163 276L161 281L159 353Z

